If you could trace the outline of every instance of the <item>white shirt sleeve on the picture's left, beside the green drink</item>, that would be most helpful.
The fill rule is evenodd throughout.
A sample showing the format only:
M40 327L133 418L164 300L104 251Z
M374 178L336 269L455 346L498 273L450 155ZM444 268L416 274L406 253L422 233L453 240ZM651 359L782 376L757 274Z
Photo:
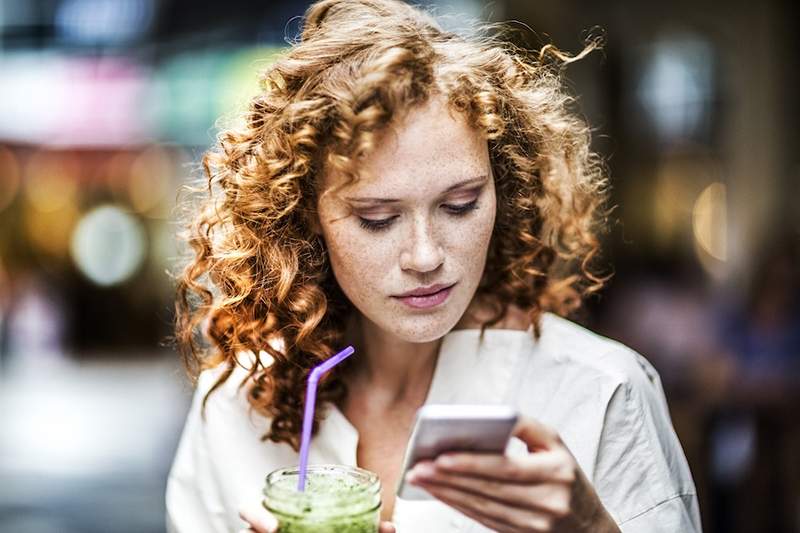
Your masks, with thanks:
M200 417L208 390L207 372L201 374L192 398L178 451L167 478L166 507L169 533L227 533L225 506L214 476Z

